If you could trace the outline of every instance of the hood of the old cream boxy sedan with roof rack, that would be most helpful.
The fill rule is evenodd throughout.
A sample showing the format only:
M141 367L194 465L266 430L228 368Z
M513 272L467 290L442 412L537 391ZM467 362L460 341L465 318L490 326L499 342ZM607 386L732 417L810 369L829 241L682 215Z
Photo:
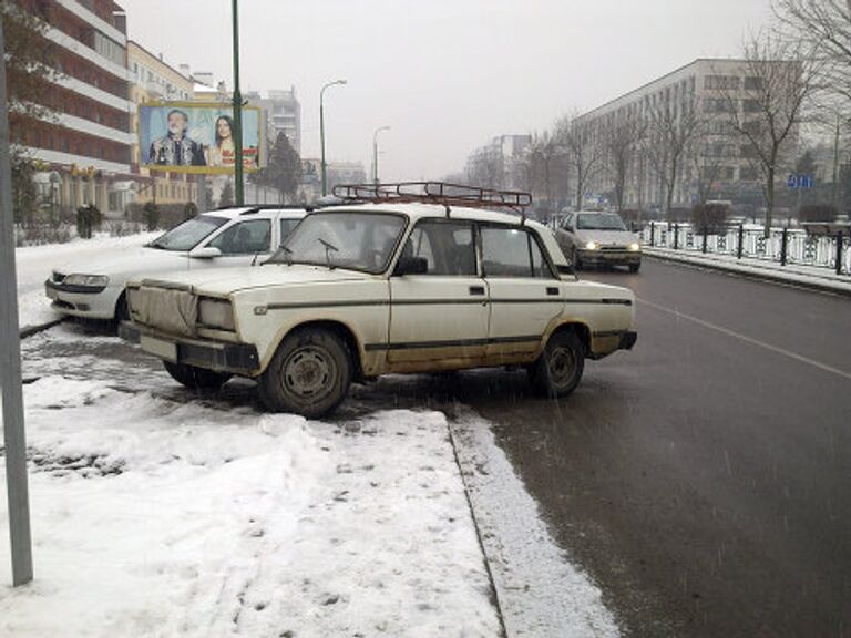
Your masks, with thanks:
M325 266L270 264L262 267L211 268L208 270L168 272L157 277L134 277L130 284L141 284L144 279L153 285L167 282L177 286L191 286L198 294L224 296L249 288L358 281L369 278L371 278L370 275L342 268L329 270Z

